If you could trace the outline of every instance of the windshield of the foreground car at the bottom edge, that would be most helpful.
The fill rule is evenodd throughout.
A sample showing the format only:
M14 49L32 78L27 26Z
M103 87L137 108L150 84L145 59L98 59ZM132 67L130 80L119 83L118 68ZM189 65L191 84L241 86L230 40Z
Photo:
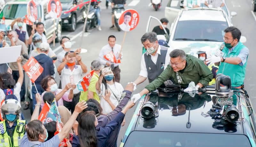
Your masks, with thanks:
M209 140L214 141L209 142ZM245 135L150 131L133 131L128 136L124 147L216 147L220 144L221 146L251 147Z

